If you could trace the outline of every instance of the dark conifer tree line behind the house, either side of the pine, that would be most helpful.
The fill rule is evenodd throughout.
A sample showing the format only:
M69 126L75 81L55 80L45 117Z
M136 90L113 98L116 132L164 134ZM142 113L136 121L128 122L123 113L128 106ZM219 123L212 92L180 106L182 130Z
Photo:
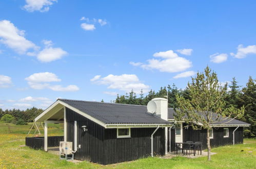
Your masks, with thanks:
M189 83L188 83L189 85ZM251 124L244 130L245 137L256 136L256 79L251 76L248 79L245 87L238 86L238 81L233 77L228 90L224 94L224 101L226 108L245 108L245 113L238 119ZM168 94L167 94L168 93ZM185 99L191 99L188 88L182 90L178 89L174 84L168 85L167 87L161 87L159 91L155 92L150 90L147 95L141 90L140 94L137 95L133 90L126 93L125 95L117 94L115 100L112 102L123 103L123 104L139 104L147 105L147 103L156 97L167 98L168 96L168 107L179 108L177 102L177 96Z

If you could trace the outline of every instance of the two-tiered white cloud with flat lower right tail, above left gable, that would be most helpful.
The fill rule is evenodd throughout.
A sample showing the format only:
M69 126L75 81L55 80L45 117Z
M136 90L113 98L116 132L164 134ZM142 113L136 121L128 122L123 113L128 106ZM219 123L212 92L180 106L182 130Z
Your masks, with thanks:
M67 87L63 87L61 85L51 85L49 82L57 82L61 81L61 79L59 79L54 73L50 72L34 73L29 77L26 77L25 80L28 81L30 88L36 90L50 89L61 92L73 92L79 90L79 88L75 85L68 85Z

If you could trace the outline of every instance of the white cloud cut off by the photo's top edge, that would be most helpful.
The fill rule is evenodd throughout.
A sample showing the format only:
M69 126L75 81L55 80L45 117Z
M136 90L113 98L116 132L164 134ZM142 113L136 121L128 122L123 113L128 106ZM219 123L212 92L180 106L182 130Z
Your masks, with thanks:
M47 12L50 9L50 6L57 2L57 0L26 0L26 5L23 6L28 12L40 11Z

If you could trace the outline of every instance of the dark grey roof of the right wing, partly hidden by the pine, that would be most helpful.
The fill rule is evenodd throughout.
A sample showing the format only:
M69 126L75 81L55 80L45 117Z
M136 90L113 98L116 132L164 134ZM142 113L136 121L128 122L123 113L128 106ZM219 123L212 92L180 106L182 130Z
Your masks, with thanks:
M173 108L168 108L168 119L174 119L174 115L175 115L175 111ZM214 118L214 116L213 116ZM215 114L215 118L216 118L216 114ZM224 117L223 117L224 119ZM230 121L231 120L231 121ZM224 125L250 125L246 122L237 120L237 119L231 119L231 118L225 118L225 120L221 120L219 119L218 121L216 120L216 122L212 123L213 125L217 125L217 124L224 124Z

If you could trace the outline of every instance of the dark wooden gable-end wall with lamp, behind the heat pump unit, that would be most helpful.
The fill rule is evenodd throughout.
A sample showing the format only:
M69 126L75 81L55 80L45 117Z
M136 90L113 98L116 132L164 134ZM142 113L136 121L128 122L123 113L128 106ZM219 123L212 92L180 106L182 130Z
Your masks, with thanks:
M81 149L77 149L74 158L78 160L87 160L103 164L103 126L75 113L66 108L67 120L67 140L72 141L74 145L74 121L77 121L77 146L80 144ZM84 132L82 126L86 125L88 131Z

